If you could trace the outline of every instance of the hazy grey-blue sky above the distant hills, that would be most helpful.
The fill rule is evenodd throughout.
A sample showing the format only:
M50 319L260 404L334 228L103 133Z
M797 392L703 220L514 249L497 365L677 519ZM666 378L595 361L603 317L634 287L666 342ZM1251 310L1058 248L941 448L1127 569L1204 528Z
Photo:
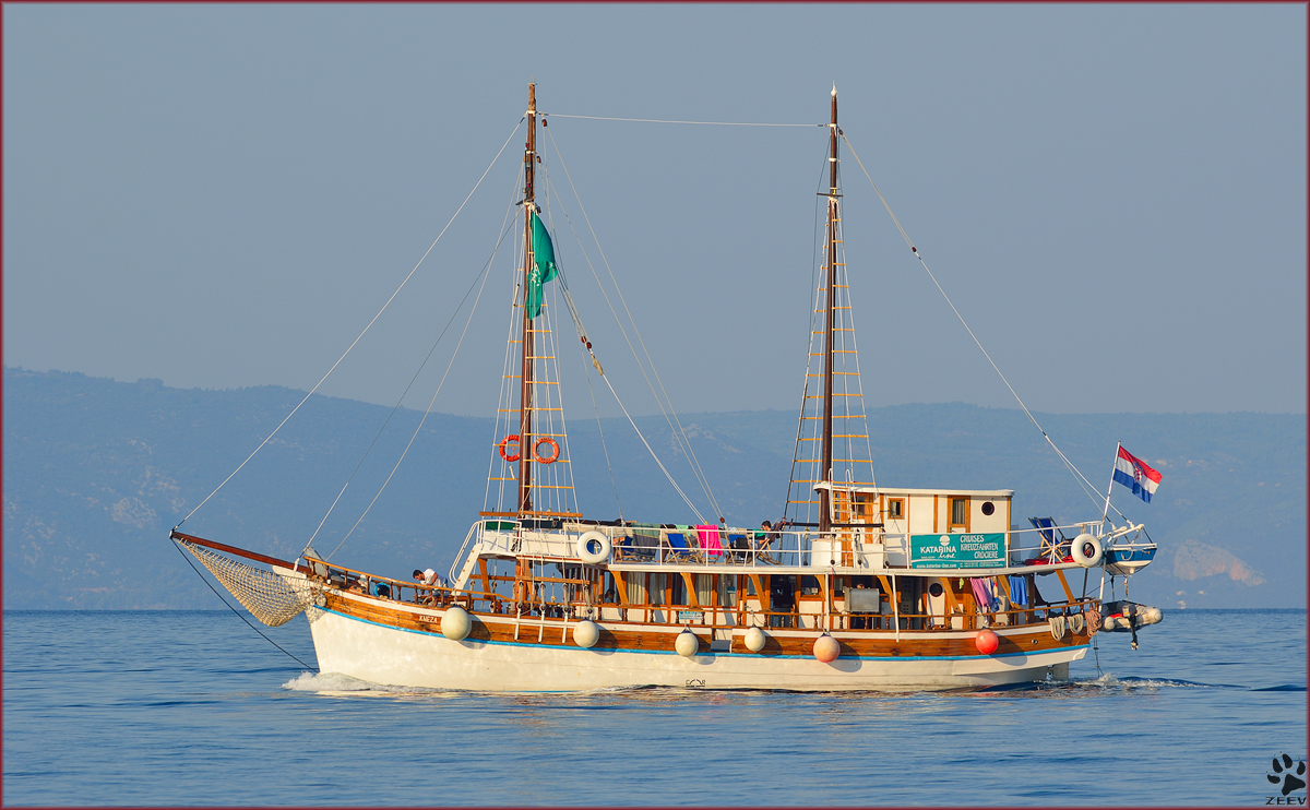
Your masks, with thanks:
M1300 4L3 13L10 366L309 388L491 163L533 76L546 113L807 123L836 81L846 136L1031 408L1306 408ZM572 173L675 405L795 408L825 130L549 131L550 180ZM520 148L521 130L325 393L394 402L490 256ZM1013 408L842 156L869 406ZM651 413L566 229L580 211L553 204L597 353ZM507 242L438 410L495 408L510 260ZM406 405L426 406L464 313ZM566 404L591 413L586 387Z

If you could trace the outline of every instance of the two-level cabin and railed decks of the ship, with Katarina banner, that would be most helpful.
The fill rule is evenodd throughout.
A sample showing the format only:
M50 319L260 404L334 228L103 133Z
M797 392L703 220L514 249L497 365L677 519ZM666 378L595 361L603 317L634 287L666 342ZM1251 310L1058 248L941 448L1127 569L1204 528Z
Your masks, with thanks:
M490 516L469 531L449 587L393 581L388 598L520 619L709 625L724 644L747 625L971 630L1081 613L1091 604L1074 590L1083 578L1070 582L1064 571L1076 566L1043 556L1041 531L1010 526L1013 494L838 485L828 532Z

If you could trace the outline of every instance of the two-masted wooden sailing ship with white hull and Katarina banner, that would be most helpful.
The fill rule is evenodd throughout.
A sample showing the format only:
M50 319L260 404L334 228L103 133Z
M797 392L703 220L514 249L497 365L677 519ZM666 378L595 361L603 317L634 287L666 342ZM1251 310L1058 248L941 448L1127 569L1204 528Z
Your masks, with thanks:
M541 322L553 254L541 256L550 246L536 204L537 118L529 88L517 353L498 422L506 435L493 451L489 503L449 582L388 578L312 549L278 560L172 532L266 624L305 612L321 671L503 691L986 687L1065 679L1096 632L1159 620L1132 603L1102 612L1106 566L1140 566L1154 552L1138 540L1140 524L1035 519L1018 530L1011 490L896 489L876 485L871 464L865 481L852 472L859 460L850 448L867 444L867 431L850 406L858 367L846 364L857 359L845 342L836 89L802 409L812 430L798 431L786 505L795 514L758 530L586 519L571 506L546 363L553 336Z

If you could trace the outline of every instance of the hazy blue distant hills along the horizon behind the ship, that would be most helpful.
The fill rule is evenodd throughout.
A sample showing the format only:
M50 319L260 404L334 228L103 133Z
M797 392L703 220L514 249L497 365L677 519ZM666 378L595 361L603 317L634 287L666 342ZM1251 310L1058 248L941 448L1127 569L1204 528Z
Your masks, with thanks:
M278 387L177 389L66 372L4 370L4 607L211 607L214 595L168 541L168 530L221 482L304 392ZM389 413L312 397L183 527L293 557L313 533ZM422 414L401 410L346 490L314 547L330 552L359 518ZM1132 596L1166 608L1303 607L1306 421L1294 414L1038 414L1098 488L1115 442L1165 476L1144 505L1116 486L1115 505L1145 520L1157 562ZM730 524L781 515L795 417L782 412L684 414ZM698 503L686 460L663 418L638 419ZM626 421L570 425L579 505L688 522L681 502ZM1014 515L1062 522L1099 514L1018 410L962 404L870 412L883 484L1014 489ZM394 480L334 560L383 574L444 569L483 505L491 419L432 414ZM705 507L701 507L705 510Z

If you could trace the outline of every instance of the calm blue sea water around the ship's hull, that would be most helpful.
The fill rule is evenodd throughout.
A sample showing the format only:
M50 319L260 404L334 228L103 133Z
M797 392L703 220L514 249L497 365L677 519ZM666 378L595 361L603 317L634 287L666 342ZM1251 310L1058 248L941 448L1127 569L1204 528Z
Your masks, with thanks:
M314 662L303 617L266 632ZM310 674L225 611L8 611L4 802L1263 805L1306 755L1305 613L1141 641L1002 692L524 697Z

